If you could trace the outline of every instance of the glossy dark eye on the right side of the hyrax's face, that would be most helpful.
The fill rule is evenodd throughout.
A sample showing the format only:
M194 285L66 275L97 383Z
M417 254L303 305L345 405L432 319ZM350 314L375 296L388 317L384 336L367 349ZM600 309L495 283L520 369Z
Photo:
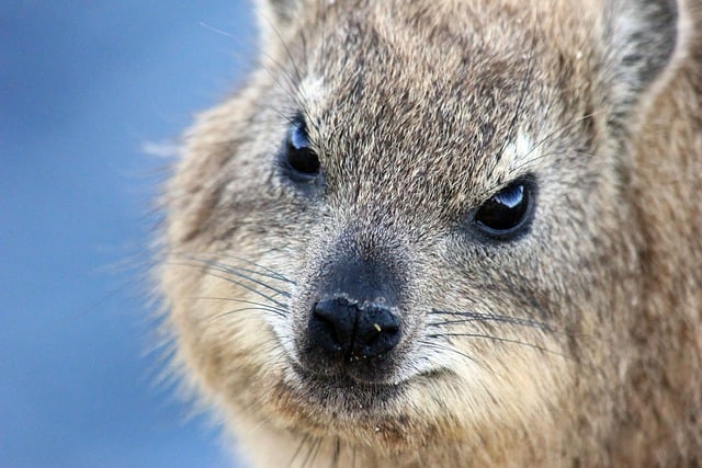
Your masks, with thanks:
M528 226L533 202L534 184L529 180L518 180L480 205L473 219L488 236L510 240Z

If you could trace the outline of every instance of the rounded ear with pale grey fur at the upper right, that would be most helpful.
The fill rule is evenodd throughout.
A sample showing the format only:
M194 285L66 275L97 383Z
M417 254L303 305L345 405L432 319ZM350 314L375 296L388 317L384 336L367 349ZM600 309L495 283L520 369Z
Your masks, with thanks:
M676 0L608 0L604 13L603 85L626 113L641 91L671 61L678 36Z

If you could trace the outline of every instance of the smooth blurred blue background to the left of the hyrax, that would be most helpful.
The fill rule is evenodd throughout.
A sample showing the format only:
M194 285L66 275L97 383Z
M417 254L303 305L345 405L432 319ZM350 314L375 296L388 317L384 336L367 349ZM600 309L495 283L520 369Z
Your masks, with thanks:
M0 467L231 466L158 384L141 276L163 155L244 79L252 23L237 0L0 2Z

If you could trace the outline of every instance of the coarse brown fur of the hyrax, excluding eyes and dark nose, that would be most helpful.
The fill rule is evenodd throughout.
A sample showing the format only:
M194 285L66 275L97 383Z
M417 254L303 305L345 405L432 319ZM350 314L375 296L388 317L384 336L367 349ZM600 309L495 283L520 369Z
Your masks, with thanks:
M702 3L258 10L260 66L188 134L159 267L177 366L245 456L702 465ZM309 183L281 164L299 116ZM472 214L523 176L529 228L485 238ZM398 283L370 380L301 351L349 252Z

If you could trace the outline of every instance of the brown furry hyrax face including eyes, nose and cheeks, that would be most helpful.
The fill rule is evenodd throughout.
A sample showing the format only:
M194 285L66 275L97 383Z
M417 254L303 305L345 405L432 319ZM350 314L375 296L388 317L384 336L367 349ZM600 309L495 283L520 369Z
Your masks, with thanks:
M675 31L644 64L602 45L638 37L604 5L349 3L265 10L261 70L189 136L163 269L182 361L242 420L387 453L607 426L626 136Z

